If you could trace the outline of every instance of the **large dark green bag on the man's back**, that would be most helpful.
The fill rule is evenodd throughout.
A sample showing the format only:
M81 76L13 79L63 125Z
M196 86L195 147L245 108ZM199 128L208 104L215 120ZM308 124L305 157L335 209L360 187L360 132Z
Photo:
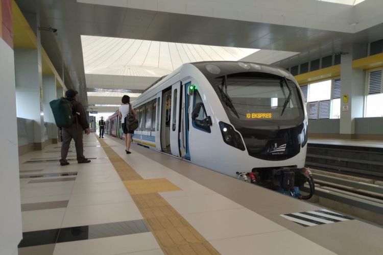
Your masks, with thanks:
M49 102L58 127L68 127L75 122L73 104L64 97Z

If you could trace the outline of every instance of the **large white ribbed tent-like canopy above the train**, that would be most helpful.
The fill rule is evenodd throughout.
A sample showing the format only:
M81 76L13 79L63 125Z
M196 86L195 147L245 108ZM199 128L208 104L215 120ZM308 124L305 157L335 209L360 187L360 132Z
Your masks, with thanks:
M259 49L81 36L85 73L162 77L184 63L238 61Z

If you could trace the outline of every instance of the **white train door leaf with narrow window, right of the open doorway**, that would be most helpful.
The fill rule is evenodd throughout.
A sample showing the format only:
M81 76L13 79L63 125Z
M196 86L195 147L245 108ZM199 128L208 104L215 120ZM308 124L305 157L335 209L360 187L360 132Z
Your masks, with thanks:
M181 82L172 86L172 114L170 125L170 147L172 155L180 157L180 104L181 104Z

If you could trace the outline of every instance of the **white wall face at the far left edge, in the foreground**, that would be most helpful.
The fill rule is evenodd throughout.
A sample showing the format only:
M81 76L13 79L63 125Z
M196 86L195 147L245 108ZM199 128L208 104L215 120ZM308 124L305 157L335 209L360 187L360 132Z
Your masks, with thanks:
M0 254L17 254L21 240L20 183L17 146L13 50L0 39Z

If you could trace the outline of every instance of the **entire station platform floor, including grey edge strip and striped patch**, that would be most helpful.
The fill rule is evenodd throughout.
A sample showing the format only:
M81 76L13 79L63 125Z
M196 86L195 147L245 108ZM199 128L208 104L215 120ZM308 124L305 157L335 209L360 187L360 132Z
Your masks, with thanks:
M20 156L19 254L380 254L383 228L95 134Z

